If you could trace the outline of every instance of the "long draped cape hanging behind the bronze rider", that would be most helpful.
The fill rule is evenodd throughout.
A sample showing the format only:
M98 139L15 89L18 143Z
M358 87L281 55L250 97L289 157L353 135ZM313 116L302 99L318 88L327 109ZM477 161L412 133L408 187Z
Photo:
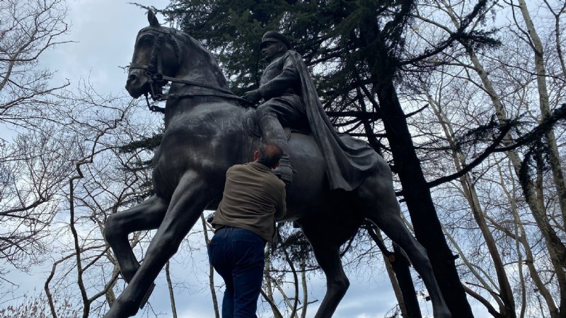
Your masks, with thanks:
M311 132L323 154L330 189L356 189L377 167L377 153L365 141L338 136L323 110L308 69L297 52L288 51L301 77L301 93Z

